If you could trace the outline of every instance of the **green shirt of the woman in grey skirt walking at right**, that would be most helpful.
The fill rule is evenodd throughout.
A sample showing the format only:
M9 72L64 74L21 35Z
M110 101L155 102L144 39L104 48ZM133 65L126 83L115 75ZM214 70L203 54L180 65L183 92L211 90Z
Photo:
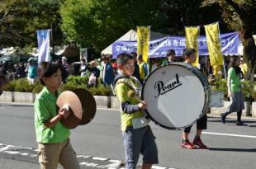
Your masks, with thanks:
M228 80L230 80L230 92L241 91L241 81L239 75L235 73L235 68L230 68L228 71Z

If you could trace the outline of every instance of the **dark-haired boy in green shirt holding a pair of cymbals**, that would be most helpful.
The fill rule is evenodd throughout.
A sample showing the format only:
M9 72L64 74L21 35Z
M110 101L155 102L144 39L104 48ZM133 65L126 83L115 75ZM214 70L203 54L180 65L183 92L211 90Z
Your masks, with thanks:
M38 74L44 86L34 103L40 168L56 169L60 163L65 169L78 169L78 159L69 140L70 131L59 122L70 113L65 108L56 110L61 69L55 63L42 62Z

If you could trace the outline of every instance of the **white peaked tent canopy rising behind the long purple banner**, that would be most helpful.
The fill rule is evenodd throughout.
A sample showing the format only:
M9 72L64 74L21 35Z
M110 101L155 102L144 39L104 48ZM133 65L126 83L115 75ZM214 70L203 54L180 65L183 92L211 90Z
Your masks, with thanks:
M160 38L164 38L165 36L167 35L159 32L155 32L155 31L150 31L150 40L158 40ZM116 41L135 41L135 40L137 40L137 32L134 30L130 30L125 35L122 35L121 38L119 38ZM107 46L106 49L103 49L101 54L112 54L112 44Z

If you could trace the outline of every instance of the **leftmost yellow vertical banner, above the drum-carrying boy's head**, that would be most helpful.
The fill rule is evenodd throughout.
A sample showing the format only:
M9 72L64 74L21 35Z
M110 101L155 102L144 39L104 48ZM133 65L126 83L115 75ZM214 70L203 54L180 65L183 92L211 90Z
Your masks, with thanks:
M149 57L149 26L137 26L137 54L142 55L145 63L148 62Z

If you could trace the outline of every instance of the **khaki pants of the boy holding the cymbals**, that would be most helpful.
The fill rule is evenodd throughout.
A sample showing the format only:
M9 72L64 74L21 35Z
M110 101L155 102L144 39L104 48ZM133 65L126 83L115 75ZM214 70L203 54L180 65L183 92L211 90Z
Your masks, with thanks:
M76 153L69 138L63 143L38 143L41 169L56 169L60 163L64 169L79 169Z

